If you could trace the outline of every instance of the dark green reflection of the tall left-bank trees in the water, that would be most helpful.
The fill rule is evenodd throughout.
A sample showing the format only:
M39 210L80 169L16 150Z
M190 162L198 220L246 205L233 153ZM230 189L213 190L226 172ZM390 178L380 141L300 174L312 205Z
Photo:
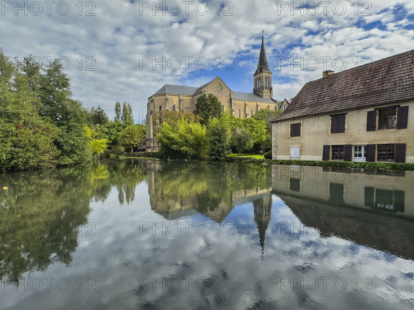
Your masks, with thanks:
M19 282L26 271L70 264L77 227L86 223L90 182L83 169L0 176L0 277Z

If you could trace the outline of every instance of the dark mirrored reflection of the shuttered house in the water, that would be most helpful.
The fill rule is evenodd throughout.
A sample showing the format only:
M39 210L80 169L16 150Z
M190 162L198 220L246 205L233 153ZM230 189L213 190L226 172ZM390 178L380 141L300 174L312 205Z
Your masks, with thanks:
M414 259L413 172L392 176L274 166L272 177L273 194L323 236Z

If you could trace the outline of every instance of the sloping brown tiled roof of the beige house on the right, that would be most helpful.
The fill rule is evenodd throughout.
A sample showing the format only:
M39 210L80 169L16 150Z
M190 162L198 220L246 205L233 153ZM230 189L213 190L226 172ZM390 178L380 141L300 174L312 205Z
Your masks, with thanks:
M276 121L414 99L414 50L308 82Z

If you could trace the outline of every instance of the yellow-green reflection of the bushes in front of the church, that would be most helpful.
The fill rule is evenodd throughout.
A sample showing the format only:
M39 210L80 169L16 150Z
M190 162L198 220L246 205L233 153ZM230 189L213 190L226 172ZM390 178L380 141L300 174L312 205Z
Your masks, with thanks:
M270 187L270 169L235 163L148 164L152 209L179 211L197 209L208 215L218 207L233 208L233 193Z

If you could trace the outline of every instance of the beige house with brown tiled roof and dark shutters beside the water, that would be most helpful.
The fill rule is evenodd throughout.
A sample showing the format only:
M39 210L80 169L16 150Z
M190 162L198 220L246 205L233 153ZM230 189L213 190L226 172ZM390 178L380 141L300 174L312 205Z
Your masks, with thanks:
M273 121L273 159L414 163L414 50L306 83Z

